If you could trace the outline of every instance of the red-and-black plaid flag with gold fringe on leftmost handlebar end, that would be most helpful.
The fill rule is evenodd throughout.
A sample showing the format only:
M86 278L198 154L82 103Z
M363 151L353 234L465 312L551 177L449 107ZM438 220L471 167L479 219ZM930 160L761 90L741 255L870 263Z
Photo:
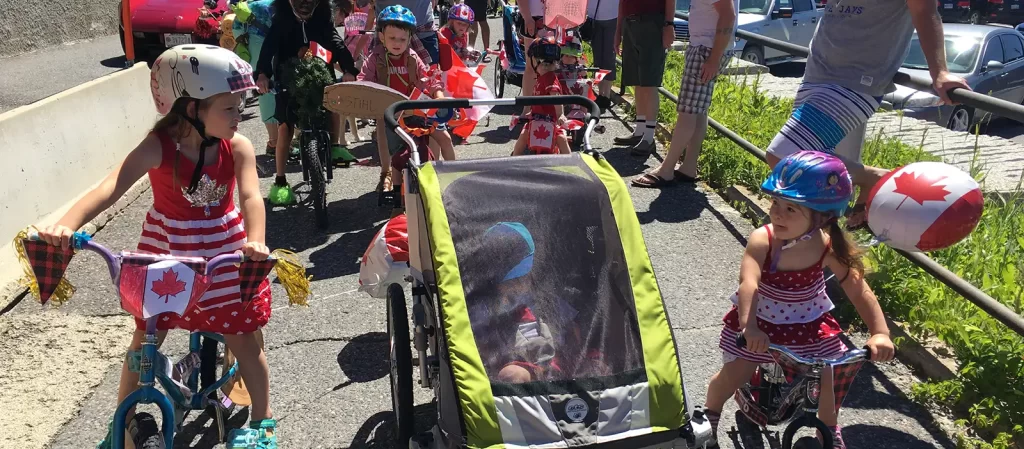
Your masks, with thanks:
M14 247L25 271L22 283L29 287L39 303L53 299L59 305L71 299L75 286L63 275L75 255L74 249L65 250L41 240L30 240L26 230L14 237Z

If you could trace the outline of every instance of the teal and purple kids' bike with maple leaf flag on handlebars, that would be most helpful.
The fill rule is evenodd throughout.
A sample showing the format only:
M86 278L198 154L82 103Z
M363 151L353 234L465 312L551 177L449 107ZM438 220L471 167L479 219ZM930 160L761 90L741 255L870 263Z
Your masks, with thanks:
M171 364L171 360L161 354L157 348L158 320L169 314L183 317L186 313L191 312L209 284L199 286L202 291L181 287L183 290L173 294L160 295L157 300L153 300L154 297L151 295L147 302L146 288L150 284L147 276L151 270L162 272L166 270L164 276L173 273L175 283L178 283L181 282L177 278L178 274L191 272L196 275L212 276L217 268L237 263L242 266L240 274L243 278L243 285L241 288L245 292L249 282L255 282L255 285L259 285L270 269L276 266L279 259L271 255L264 261L253 261L244 257L241 252L221 254L209 260L202 257L178 257L131 251L121 251L119 254L115 254L92 241L88 234L82 232L74 234L71 243L76 251L86 249L103 257L111 279L121 297L122 309L136 318L145 320L142 350L137 356L132 355L128 361L129 369L139 373L139 389L118 404L112 424L114 432L111 432L110 447L113 449L124 448L124 431L127 428L137 448L171 448L175 433L181 431L185 417L191 411L212 408L219 441L228 443L227 449L249 449L251 446L245 442L227 441L226 418L230 416L236 404L221 391L221 387L234 378L239 365L236 361L230 367L221 366L221 376L215 377L218 345L224 342L223 336L210 332L191 332L188 338L188 353L174 364ZM50 245L41 241L39 235L34 232L28 234L28 238L23 240L23 245L25 245L26 250L37 253L50 249L48 248ZM33 263L31 259L29 263L36 272L52 270L50 267L37 267L36 263L39 262ZM141 282L141 288L135 289L138 282ZM193 281L182 284L197 286ZM129 288L124 289L122 286ZM159 295L159 292L154 292L154 294ZM211 344L211 341L215 341L215 343ZM211 364L211 362L213 363ZM203 374L203 385L200 385L201 373ZM155 386L157 381L160 382L166 394L157 390ZM128 411L138 404L157 404L162 414L162 430L158 430L156 418L145 412L136 413L126 427L125 420Z

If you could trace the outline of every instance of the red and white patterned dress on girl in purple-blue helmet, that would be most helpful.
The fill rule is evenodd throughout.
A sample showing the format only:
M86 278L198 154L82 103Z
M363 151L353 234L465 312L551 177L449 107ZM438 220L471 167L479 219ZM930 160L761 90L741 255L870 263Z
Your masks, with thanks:
M771 226L765 226L771 242ZM835 305L825 293L824 272L821 264L831 250L826 245L818 261L804 270L770 273L771 243L768 255L761 270L758 283L757 317L758 328L768 334L768 339L785 346L801 357L836 358L847 351L840 339L843 332L839 322L831 316ZM739 334L738 292L732 295L732 310L722 321L725 327L719 339L725 363L736 358L758 363L774 362L768 353L757 354L736 348Z

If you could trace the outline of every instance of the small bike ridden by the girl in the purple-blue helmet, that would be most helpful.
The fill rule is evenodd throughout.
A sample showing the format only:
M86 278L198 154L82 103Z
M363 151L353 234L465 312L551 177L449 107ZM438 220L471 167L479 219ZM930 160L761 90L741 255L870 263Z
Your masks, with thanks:
M736 346L744 348L746 338L736 337ZM736 423L740 427L757 426L759 444L763 437L771 438L768 425L785 423L782 433L782 449L820 449L833 447L833 436L821 419L818 419L818 398L821 394L821 370L833 368L833 390L836 404L841 404L854 377L864 362L869 360L870 351L853 350L838 359L810 359L800 357L785 346L768 344L768 353L775 363L758 366L751 381L736 391L733 398L739 406ZM742 420L745 419L745 422ZM813 427L821 435L801 438L794 444L793 438L802 427ZM741 434L736 427L729 433ZM775 441L778 433L775 433ZM744 447L748 443L744 443Z

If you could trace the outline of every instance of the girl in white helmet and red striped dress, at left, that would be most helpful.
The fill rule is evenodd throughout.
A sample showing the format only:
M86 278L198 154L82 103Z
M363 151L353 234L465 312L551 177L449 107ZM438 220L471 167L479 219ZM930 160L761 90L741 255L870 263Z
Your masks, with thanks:
M193 70L196 67L201 70ZM151 72L154 103L164 117L98 187L39 236L68 248L75 230L148 174L154 201L142 223L139 251L209 258L241 250L253 260L266 259L256 153L238 133L242 93L256 88L252 68L224 48L195 45L165 51ZM240 208L234 206L236 186ZM158 336L162 341L167 330L175 328L223 334L252 398L249 428L232 431L231 438L251 438L259 448L276 448L269 367L258 339L270 319L269 283L263 279L254 297L242 297L239 268L227 266L213 273L210 287L195 313L159 320ZM144 330L145 323L136 319L121 368L118 403L138 386L139 375L129 369L128 360L138 357ZM112 422L99 447L110 446L113 432L124 430L113 428ZM126 441L131 447L130 438Z

